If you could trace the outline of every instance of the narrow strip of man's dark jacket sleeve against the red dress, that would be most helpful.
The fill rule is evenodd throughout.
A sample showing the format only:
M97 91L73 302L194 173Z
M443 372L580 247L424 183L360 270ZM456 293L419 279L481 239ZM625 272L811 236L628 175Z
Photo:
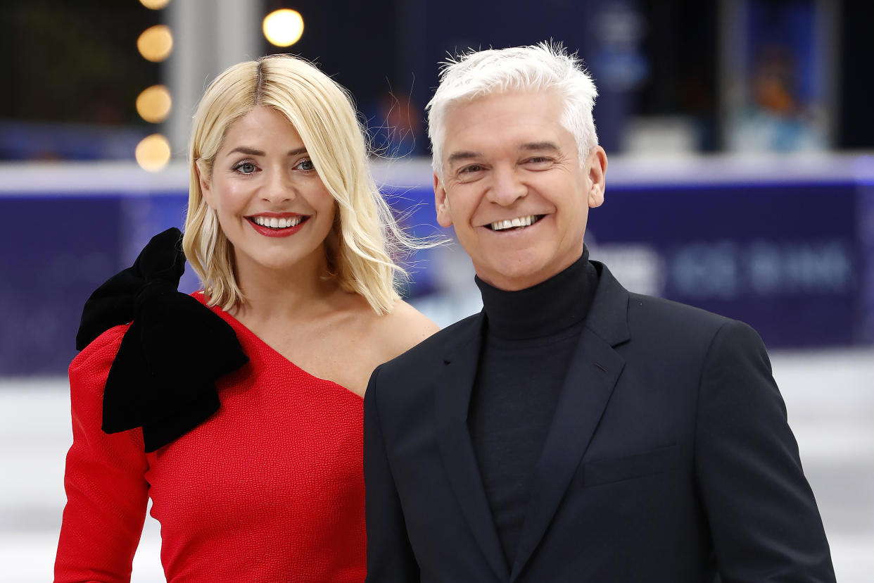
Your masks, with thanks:
M379 368L364 393L364 494L367 517L367 582L420 580L407 538L404 511L389 467L378 412Z

